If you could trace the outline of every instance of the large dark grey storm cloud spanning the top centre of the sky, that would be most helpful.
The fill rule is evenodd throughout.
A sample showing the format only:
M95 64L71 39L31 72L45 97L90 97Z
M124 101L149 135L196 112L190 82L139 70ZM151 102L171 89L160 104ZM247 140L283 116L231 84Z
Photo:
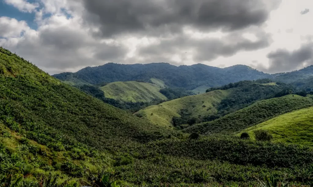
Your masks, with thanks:
M280 1L263 0L83 0L86 22L102 36L164 35L182 26L232 31L264 23ZM267 4L266 4L267 3ZM270 4L270 5L269 5Z

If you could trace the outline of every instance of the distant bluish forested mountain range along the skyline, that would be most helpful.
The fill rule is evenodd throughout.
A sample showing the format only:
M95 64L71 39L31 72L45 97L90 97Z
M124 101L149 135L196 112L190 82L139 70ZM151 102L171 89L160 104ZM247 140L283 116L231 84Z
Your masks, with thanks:
M268 78L270 75L249 66L236 65L218 68L204 64L192 66L173 66L168 63L114 64L86 67L76 73L61 73L54 77L62 81L83 80L90 84L117 81L144 81L156 78L170 87L193 90L199 86L221 86L229 82ZM68 80L70 79L70 80Z

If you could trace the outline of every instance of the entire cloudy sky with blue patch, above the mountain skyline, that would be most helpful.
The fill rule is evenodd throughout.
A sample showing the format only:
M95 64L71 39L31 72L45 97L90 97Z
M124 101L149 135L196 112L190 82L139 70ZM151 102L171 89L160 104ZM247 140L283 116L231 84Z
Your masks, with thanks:
M49 74L108 62L313 64L313 0L0 0L0 46Z

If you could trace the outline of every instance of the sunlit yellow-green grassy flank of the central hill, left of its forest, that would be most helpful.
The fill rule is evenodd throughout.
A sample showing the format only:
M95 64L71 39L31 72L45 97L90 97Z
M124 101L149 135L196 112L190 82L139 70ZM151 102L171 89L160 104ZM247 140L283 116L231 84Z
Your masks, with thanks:
M169 127L172 126L172 118L180 116L179 111L182 109L188 109L193 116L215 114L217 112L215 107L230 92L231 89L216 90L200 95L186 96L159 105L149 106L136 114L140 114L144 119L156 125Z

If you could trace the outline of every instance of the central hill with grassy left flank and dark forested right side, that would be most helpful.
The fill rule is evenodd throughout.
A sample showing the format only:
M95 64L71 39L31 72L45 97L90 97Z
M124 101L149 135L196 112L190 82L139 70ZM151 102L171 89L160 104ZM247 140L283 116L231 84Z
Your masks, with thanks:
M277 94L285 93L285 90L289 91L289 89L294 88L286 84L276 85L267 79L239 81L210 88L205 94L182 97L157 106L149 106L135 115L153 124L184 129L195 123L215 120L256 101L274 98Z

